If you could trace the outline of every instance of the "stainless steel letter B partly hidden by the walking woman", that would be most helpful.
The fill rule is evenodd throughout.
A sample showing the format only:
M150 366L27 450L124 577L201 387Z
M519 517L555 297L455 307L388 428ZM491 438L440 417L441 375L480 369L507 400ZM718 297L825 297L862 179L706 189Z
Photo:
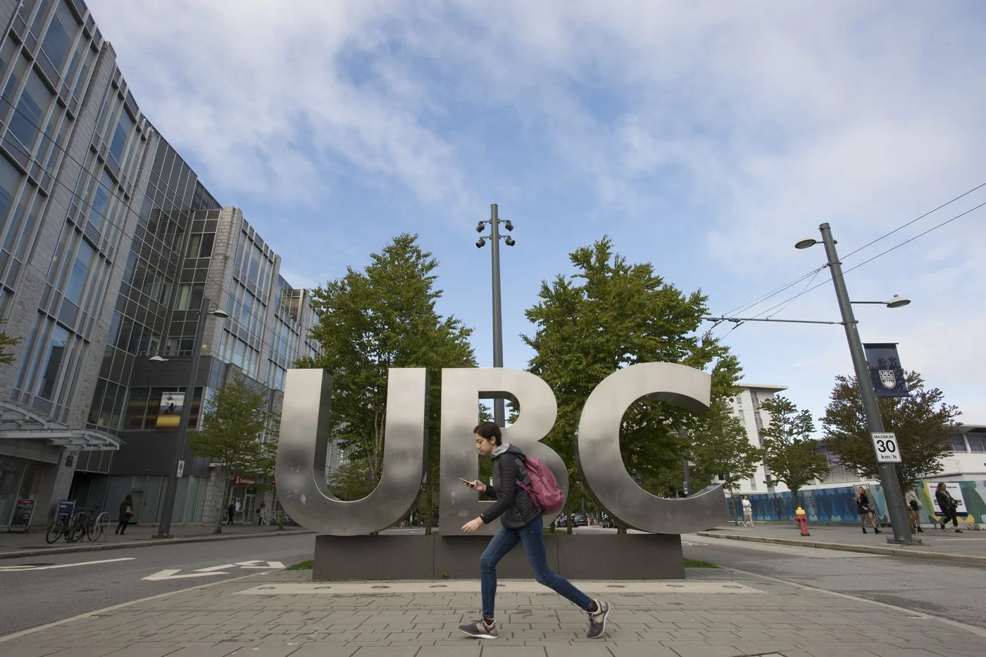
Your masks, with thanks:
M568 469L558 454L538 440L547 435L558 415L558 403L547 383L521 369L503 367L448 368L442 370L442 480L439 493L439 527L444 535L461 535L459 528L493 502L480 501L479 494L458 478L472 481L479 474L479 460L472 428L479 422L478 401L505 395L520 409L517 422L503 429L504 442L516 444L529 456L544 461L568 495ZM557 513L544 516L547 524ZM493 534L499 521L479 530Z

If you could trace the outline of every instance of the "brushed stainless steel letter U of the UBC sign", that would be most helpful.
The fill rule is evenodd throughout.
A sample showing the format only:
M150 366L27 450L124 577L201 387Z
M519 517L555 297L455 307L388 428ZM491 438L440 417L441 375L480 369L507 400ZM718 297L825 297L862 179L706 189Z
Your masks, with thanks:
M387 425L380 483L362 499L343 501L325 486L332 377L322 369L289 369L277 446L277 493L302 526L356 536L387 529L404 517L421 488L428 449L428 374L387 374Z

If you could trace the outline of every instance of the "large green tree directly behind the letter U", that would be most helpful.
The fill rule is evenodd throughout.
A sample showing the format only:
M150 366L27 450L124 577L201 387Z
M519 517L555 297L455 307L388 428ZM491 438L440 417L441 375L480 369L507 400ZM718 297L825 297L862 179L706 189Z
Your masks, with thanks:
M312 331L320 346L316 359L299 367L321 367L334 377L330 437L353 458L364 458L373 486L380 481L387 418L387 370L426 367L429 390L428 474L423 488L426 533L438 497L443 367L475 366L468 343L471 329L436 309L442 291L435 287L438 261L402 233L362 271L349 267L342 278L313 293L318 324Z

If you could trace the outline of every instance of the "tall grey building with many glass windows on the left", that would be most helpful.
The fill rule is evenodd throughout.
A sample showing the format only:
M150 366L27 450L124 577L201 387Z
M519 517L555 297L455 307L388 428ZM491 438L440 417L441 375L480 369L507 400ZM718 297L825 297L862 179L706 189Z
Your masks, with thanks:
M178 437L163 400L183 402L202 300L230 316L207 320L190 427L233 373L279 408L315 353L311 296L143 115L82 0L0 0L0 25L0 319L21 340L0 364L0 529L64 498L115 514L126 493L156 522ZM185 461L174 521L208 520L214 469Z

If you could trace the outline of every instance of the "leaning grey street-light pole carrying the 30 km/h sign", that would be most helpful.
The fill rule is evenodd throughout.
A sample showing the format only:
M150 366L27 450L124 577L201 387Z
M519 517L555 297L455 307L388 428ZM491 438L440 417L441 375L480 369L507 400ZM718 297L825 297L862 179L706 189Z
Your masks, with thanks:
M856 317L853 315L852 301L849 300L849 293L846 291L846 281L842 276L842 263L839 262L839 255L835 250L835 240L832 239L832 230L828 224L818 227L821 231L821 242L825 245L825 255L828 257L828 268L831 270L832 285L835 286L835 296L839 300L839 310L842 312L842 325L846 330L846 339L849 341L849 353L852 355L853 367L856 369L856 383L859 385L860 397L863 400L863 412L866 414L867 427L870 433L883 432L883 419L880 417L880 405L877 403L877 391L874 390L873 381L870 379L870 365L866 361L866 354L863 351L863 343L860 341L859 328ZM796 248L809 248L819 243L816 239L803 239L795 244ZM906 299L901 299L897 304L903 304ZM889 307L897 307L894 301L887 303ZM908 545L920 543L911 536L911 523L907 517L907 509L904 506L904 496L900 493L900 483L897 481L897 471L892 463L881 463L877 459L877 469L880 473L880 483L883 485L883 492L886 497L886 510L890 515L890 524L893 528L893 538L887 537L887 543L898 543Z

